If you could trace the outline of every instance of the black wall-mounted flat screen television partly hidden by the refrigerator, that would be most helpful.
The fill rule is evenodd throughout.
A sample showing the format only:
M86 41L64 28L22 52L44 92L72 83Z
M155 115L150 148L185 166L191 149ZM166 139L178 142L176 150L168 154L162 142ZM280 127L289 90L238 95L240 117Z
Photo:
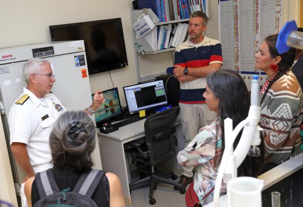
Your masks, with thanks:
M52 41L84 40L88 73L128 66L121 18L49 26Z

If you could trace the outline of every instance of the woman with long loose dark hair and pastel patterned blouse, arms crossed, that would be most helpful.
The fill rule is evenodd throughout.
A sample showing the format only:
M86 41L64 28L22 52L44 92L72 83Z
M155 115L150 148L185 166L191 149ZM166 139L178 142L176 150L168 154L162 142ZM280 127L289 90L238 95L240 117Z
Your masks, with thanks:
M194 191L203 206L213 201L213 189L217 171L224 150L224 119L231 118L233 126L244 120L249 110L249 93L241 76L235 71L219 70L207 78L206 92L203 94L210 111L218 117L199 130L193 140L178 153L178 163L184 167L196 167L193 183L187 192ZM239 141L238 135L234 147ZM261 159L260 159L261 160ZM255 160L246 157L238 168L238 175L257 176ZM193 188L193 189L192 189ZM223 184L221 192L226 191Z

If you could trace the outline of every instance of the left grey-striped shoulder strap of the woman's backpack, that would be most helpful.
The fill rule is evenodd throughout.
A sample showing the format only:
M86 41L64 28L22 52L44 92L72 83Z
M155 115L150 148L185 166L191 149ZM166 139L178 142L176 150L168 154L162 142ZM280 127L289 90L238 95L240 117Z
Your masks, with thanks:
M38 188L40 198L60 192L54 179L52 169L42 171L35 175L35 182Z

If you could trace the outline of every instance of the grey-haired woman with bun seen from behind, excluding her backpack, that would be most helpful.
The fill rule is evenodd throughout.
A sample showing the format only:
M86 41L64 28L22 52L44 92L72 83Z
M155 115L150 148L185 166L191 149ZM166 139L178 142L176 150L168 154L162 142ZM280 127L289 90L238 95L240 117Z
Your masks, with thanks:
M47 173L53 175L59 190L68 189L66 192L73 191L78 180L82 179L81 176L92 170L91 153L96 144L95 135L94 123L85 112L68 111L56 121L51 135L49 135L49 146L51 147L54 167L47 170L50 171ZM100 176L99 183L95 184L95 190L91 195L95 206L125 206L119 178L113 173L104 174L102 171L98 173L102 176ZM38 174L25 183L25 194L29 207L35 203L36 206L40 206L41 192L38 191L37 181L41 179L41 174ZM49 180L52 181L51 178Z

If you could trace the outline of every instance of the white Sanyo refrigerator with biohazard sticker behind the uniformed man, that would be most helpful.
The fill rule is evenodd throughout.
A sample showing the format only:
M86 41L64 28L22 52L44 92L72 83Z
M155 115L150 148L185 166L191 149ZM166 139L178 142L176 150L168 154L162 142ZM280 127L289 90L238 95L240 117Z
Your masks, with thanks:
M26 86L22 75L22 66L25 61L32 58L43 58L51 62L56 79L52 92L67 110L84 110L90 106L92 101L83 40L0 49L0 112L9 152L8 114L14 101L23 92L23 87ZM94 167L101 169L98 147L92 156ZM14 182L20 183L24 173L16 166L11 153L10 162Z

